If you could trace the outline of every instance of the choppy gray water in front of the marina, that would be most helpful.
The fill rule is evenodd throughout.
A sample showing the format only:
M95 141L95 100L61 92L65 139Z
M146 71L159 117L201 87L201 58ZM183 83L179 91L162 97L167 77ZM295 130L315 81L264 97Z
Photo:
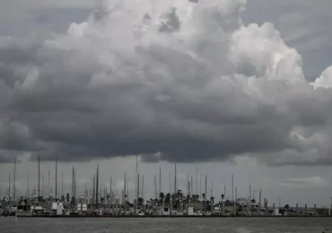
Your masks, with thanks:
M4 233L332 233L332 218L238 219L19 219L0 217Z

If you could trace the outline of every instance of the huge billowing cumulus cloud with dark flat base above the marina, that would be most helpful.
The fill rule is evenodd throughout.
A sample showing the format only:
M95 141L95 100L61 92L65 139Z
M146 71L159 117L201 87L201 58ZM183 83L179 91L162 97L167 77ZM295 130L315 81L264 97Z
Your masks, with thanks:
M43 160L331 164L332 91L305 79L272 23L244 25L245 5L105 1L66 35L1 38L1 148Z

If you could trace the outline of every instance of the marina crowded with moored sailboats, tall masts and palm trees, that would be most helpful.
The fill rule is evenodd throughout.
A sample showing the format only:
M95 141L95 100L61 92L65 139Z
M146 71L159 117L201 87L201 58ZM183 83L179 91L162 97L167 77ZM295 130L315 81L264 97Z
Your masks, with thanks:
M202 182L202 176L199 179L198 188L198 169L196 169L196 186L194 192L194 179L187 176L186 191L178 188L177 165L174 165L174 187L173 192L165 194L162 192L162 168L159 168L159 177L154 176L154 196L150 199L144 199L144 176L138 173L138 161L136 158L135 173L137 174L135 186L135 198L129 200L128 177L125 172L123 188L120 193L111 189L112 178L109 177L109 190L106 186L100 188L100 168L92 178L92 187L90 189L84 186L83 194L76 194L76 171L72 168L72 192L64 193L62 173L61 194L57 191L57 159L56 168L56 195L49 193L44 196L40 192L40 160L38 160L38 189L33 192L28 186L27 195L16 196L16 161L13 165L13 183L11 183L11 174L9 174L8 195L1 198L0 215L16 217L51 217L51 218L182 218L182 217L310 217L310 216L330 216L331 209L317 208L316 204L309 206L299 206L288 204L282 206L269 203L266 198L262 198L262 191L259 190L258 200L255 199L255 191L251 190L249 182L248 197L238 197L238 188L234 186L234 177L232 175L232 198L226 198L226 186L224 193L221 194L219 201L215 201L213 195L213 181L211 182L210 195L208 196L207 183ZM49 174L49 168L48 168ZM171 177L171 174L170 174ZM28 173L29 184L29 173ZM44 177L43 177L44 180ZM159 182L157 182L159 180ZM48 175L49 184L49 175ZM204 185L204 186L202 186ZM13 187L12 187L13 186ZM44 182L42 183L44 186ZM48 185L50 186L50 185ZM13 188L13 195L11 194ZM51 186L50 186L51 187ZM202 187L204 191L202 192ZM44 187L42 187L42 191ZM170 187L171 190L171 187ZM198 192L199 190L199 192ZM21 192L22 193L22 192ZM184 194L187 193L187 194ZM199 194L198 194L199 193Z

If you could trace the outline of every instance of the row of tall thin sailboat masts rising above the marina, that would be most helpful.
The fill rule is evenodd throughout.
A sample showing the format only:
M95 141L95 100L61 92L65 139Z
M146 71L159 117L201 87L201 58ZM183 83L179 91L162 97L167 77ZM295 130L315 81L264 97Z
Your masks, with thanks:
M56 169L55 169L55 177L56 177L56 184L55 184L55 197L57 198L58 193L57 193L57 157L55 160L56 163ZM13 200L16 198L16 186L15 186L15 180L16 180L16 158L14 158L14 166L13 166ZM136 163L135 163L135 173L136 173L136 178L135 178L135 198L144 198L144 176L140 175L138 173L138 159L136 157ZM31 189L30 189L30 180L29 180L29 171L27 174L28 178L28 190L27 194L30 197L31 195ZM49 183L49 166L48 166L48 188L51 189L50 183ZM44 195L44 176L42 177L42 194L40 194L40 158L38 157L38 196L43 196ZM170 180L171 180L171 173L170 173ZM140 184L141 183L141 184ZM209 188L210 190L210 196L214 196L214 183L213 180L211 181L211 187ZM187 175L187 182L186 182L186 190L187 190L187 195L191 196L194 194L194 179L193 176L188 177ZM237 186L235 186L235 200L237 200ZM169 187L169 194L177 194L178 192L178 180L177 180L177 164L174 164L174 187L173 190L171 190L171 186ZM206 201L207 198L207 176L205 175L205 192L203 195L204 201ZM9 196L11 196L11 172L9 172L9 186L8 186L8 193ZM103 197L106 197L107 191L104 185L104 194L102 195L102 191L100 191L100 168L99 165L97 165L96 173L92 177L92 190L90 190L90 194L87 191L86 185L84 189L84 196L90 196L92 197L93 203L97 203L100 199L100 196L102 195ZM109 195L111 195L112 192L112 177L109 177ZM157 177L154 176L154 197L155 199L159 198L159 195L162 193L162 168L159 168L159 182L157 186ZM195 193L198 193L198 168L196 168L196 186L195 186ZM49 192L51 194L51 191ZM61 184L61 194L64 195L64 171L62 172L62 184ZM76 196L76 171L73 167L72 169L72 196ZM252 191L251 191L251 183L249 182L249 200L252 200ZM100 196L99 196L100 195ZM118 195L118 194L117 194ZM127 177L127 172L125 172L125 177L124 177L124 187L123 187L123 192L121 195L122 200L128 201L129 199L129 177ZM199 175L199 196L202 197L202 176ZM223 198L226 196L226 186L223 186ZM234 177L232 175L232 201L234 201ZM261 203L261 192L259 191L259 203ZM279 200L280 203L280 200Z

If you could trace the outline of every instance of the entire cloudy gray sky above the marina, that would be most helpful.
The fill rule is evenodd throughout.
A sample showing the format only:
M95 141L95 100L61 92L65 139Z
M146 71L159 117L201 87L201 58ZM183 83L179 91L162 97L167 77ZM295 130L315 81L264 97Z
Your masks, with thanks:
M134 198L138 156L144 197L177 163L183 190L198 169L217 199L233 174L239 197L250 182L269 203L329 206L331 4L0 0L1 192L14 157L17 186L28 171L36 186L40 155L51 184L56 157L68 191L73 166L83 191L100 164L101 186L127 172Z

